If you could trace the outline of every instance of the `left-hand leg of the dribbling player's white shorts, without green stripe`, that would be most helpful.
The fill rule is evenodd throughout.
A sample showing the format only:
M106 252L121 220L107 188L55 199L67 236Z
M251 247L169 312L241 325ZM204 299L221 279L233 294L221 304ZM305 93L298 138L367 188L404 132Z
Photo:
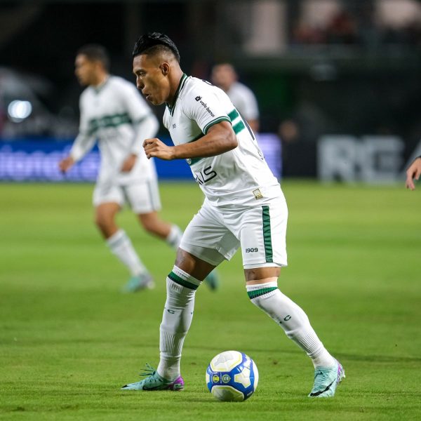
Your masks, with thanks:
M203 204L187 225L180 248L210 265L218 266L232 258L239 248L239 240L227 229L220 215Z

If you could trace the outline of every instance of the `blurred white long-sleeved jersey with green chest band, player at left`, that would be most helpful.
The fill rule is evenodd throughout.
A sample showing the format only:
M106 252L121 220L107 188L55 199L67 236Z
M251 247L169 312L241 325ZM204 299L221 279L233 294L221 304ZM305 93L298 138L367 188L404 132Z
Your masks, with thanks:
M95 145L101 154L98 183L128 185L156 179L153 161L147 159L143 140L153 138L159 123L133 83L109 76L102 86L89 86L79 101L81 120L70 155L79 161ZM130 173L121 173L129 154L138 155Z

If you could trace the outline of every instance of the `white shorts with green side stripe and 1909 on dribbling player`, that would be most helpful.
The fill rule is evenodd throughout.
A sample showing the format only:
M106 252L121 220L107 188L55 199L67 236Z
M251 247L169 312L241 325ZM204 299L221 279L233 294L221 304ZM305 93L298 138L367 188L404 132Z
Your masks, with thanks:
M241 246L244 269L283 267L288 208L283 196L246 210L219 210L206 201L187 226L180 248L218 266Z

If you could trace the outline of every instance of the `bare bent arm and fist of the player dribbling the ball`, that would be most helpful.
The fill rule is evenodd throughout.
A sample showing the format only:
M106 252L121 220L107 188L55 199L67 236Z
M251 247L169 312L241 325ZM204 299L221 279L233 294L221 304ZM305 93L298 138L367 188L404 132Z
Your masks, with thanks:
M168 146L161 140L146 139L143 142L145 153L148 158L153 156L165 160L206 158L207 156L220 155L235 149L238 145L236 135L231 123L221 121L210 126L206 135L195 142L182 145Z

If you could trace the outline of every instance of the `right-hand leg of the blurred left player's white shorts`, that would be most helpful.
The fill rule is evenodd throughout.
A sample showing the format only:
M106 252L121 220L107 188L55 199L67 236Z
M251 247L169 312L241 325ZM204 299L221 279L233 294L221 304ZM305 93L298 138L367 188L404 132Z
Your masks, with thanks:
M126 185L123 187L123 192L131 210L136 215L161 210L161 199L156 180L145 180Z

